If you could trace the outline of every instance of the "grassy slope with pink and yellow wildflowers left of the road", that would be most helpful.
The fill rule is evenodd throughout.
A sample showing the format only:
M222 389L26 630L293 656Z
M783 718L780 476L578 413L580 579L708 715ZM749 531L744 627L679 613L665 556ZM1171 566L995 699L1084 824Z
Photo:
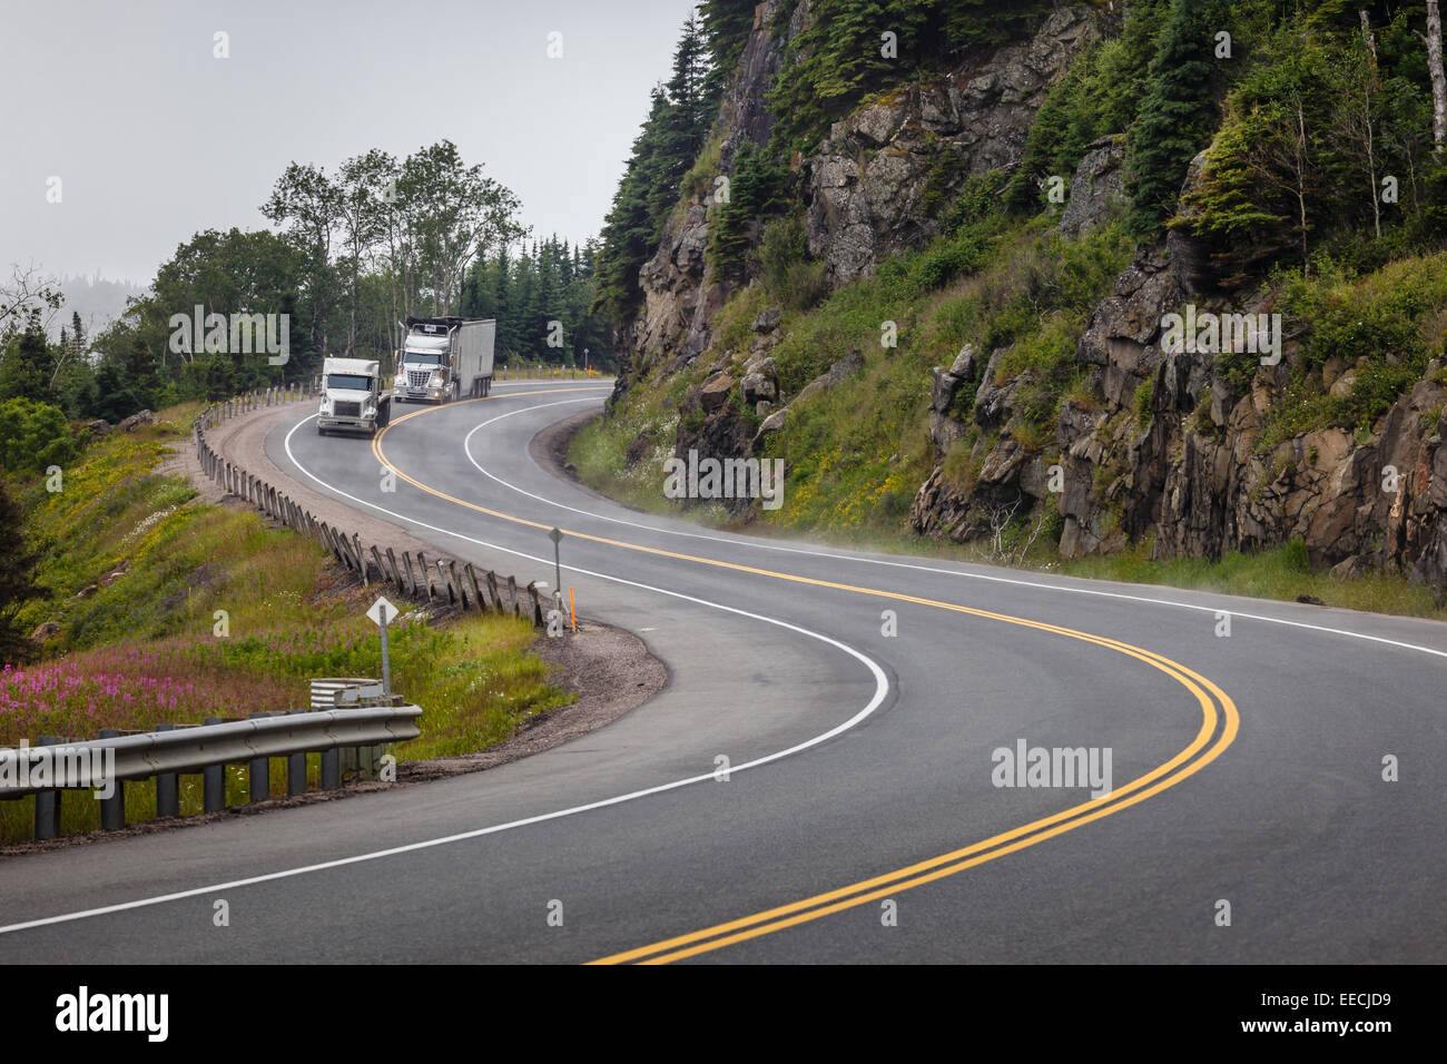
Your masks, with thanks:
M295 533L201 504L184 476L155 472L194 415L162 411L156 426L90 447L62 491L36 484L23 492L48 591L25 620L56 620L62 636L42 662L0 675L0 744L291 709L307 705L314 676L381 675L376 627L365 617L375 592L343 582L327 553ZM120 579L98 586L117 570ZM391 638L394 688L425 715L421 738L395 748L398 760L480 750L570 701L527 653L534 637L515 618L466 615L446 627L404 618ZM273 792L284 790L282 764ZM233 770L232 801L242 801L240 788ZM187 811L200 808L194 792ZM127 788L135 816L149 815L150 802L150 786ZM0 803L0 841L29 837L32 806ZM96 827L94 802L62 808L67 834Z

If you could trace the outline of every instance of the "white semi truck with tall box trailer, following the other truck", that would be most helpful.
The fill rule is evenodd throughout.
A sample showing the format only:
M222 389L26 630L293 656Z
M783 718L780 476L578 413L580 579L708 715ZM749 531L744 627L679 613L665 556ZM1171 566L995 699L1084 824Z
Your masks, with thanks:
M492 391L493 318L410 317L396 353L394 402L451 402Z

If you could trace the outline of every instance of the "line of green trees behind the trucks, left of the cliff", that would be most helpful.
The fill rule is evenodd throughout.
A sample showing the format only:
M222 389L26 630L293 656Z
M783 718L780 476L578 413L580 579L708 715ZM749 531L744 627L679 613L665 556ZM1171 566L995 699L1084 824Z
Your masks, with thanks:
M96 336L72 314L49 340L62 298L35 271L14 271L0 285L0 405L119 421L302 379L327 355L389 363L410 316L496 317L502 365L582 365L587 350L592 365L611 366L609 329L590 313L596 243L525 243L518 207L449 140L405 159L368 151L334 171L292 162L260 206L273 229L195 233ZM197 308L287 316L285 362L178 343ZM179 330L177 316L187 318Z

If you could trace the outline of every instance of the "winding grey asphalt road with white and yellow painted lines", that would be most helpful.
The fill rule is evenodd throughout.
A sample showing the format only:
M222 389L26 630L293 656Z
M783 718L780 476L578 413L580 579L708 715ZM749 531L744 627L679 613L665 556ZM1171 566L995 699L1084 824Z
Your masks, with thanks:
M658 696L486 773L7 860L0 961L1447 957L1447 627L640 515L530 456L605 395L502 385L375 442L298 408L266 449L525 579L564 528ZM1022 743L1110 751L1110 793L996 786Z

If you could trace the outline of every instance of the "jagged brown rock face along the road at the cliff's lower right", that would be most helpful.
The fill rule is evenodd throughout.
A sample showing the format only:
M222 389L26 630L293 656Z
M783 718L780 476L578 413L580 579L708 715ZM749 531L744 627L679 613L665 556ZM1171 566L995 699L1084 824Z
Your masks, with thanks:
M1188 184L1200 172L1198 159ZM1045 460L1022 455L1001 434L990 447L977 444L980 473L964 495L936 466L916 495L913 528L974 537L993 502L1023 498L1026 508L1053 507L1062 515L1066 557L1149 536L1156 557L1218 557L1301 539L1312 565L1336 576L1380 569L1447 585L1447 388L1420 381L1365 440L1327 427L1262 447L1268 414L1289 382L1291 339L1282 363L1260 366L1246 388L1217 372L1214 353L1160 349L1162 317L1187 303L1200 311L1269 313L1260 297L1213 291L1204 262L1198 248L1172 235L1165 248L1137 256L1095 307L1077 358L1098 401L1061 405L1058 491L1043 475ZM939 457L968 424L998 428L1016 415L1011 382L994 382L998 352L971 411L959 414L954 398L968 379L968 355L935 371L930 428ZM1321 375L1333 394L1346 394L1354 379L1343 365L1328 363ZM1149 407L1137 407L1137 389L1147 384Z

